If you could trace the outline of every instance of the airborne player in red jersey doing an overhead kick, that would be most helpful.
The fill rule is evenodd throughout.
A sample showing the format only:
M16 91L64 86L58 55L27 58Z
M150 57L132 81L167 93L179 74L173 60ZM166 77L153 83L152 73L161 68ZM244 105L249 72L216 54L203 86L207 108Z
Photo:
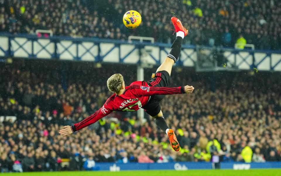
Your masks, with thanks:
M64 126L64 129L59 131L60 134L64 136L72 134L97 122L112 111L137 111L143 108L149 115L155 118L155 124L167 133L172 148L175 151L179 151L179 142L174 131L169 129L165 122L160 102L165 95L192 93L194 88L193 86L168 87L172 66L179 57L182 40L188 33L188 30L183 27L179 19L172 17L171 20L177 37L165 61L159 66L156 73L152 74L151 80L148 82L135 81L130 86L125 87L121 74L112 75L107 80L107 87L114 94L94 114L72 126Z

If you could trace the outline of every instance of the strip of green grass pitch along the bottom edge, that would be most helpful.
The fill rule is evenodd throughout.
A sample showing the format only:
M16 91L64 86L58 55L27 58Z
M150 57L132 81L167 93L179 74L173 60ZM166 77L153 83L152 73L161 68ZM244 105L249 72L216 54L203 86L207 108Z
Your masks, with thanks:
M0 176L281 176L281 169L251 170L153 170L153 171L76 171L5 173Z

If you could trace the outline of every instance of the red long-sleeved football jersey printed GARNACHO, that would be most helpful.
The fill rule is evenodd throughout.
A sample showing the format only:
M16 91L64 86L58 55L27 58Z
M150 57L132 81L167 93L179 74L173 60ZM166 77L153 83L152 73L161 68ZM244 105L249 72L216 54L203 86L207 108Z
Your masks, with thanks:
M151 95L171 95L185 93L184 86L177 88L150 87L145 81L135 81L127 86L122 95L115 93L94 114L71 126L72 131L85 128L97 122L112 111L137 111L146 105Z

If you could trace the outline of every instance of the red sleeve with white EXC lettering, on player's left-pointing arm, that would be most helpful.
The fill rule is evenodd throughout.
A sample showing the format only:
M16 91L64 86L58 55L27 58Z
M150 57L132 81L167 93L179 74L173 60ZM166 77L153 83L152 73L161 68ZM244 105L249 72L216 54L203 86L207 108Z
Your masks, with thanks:
M73 132L75 132L75 131L78 131L79 129L88 127L89 125L97 122L102 117L105 117L105 116L109 115L111 112L112 112L112 110L110 110L109 108L105 107L105 105L103 105L94 114L90 115L89 117L87 117L86 119L82 120L81 122L78 122L78 123L72 125L71 126L71 130Z

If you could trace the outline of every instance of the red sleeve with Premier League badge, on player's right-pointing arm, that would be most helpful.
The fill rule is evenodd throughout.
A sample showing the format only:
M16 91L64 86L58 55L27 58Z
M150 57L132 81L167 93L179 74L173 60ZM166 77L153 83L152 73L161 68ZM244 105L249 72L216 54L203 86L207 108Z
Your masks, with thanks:
M151 95L172 95L185 93L184 86L181 87L150 87L133 85L134 90L138 96L151 96Z

